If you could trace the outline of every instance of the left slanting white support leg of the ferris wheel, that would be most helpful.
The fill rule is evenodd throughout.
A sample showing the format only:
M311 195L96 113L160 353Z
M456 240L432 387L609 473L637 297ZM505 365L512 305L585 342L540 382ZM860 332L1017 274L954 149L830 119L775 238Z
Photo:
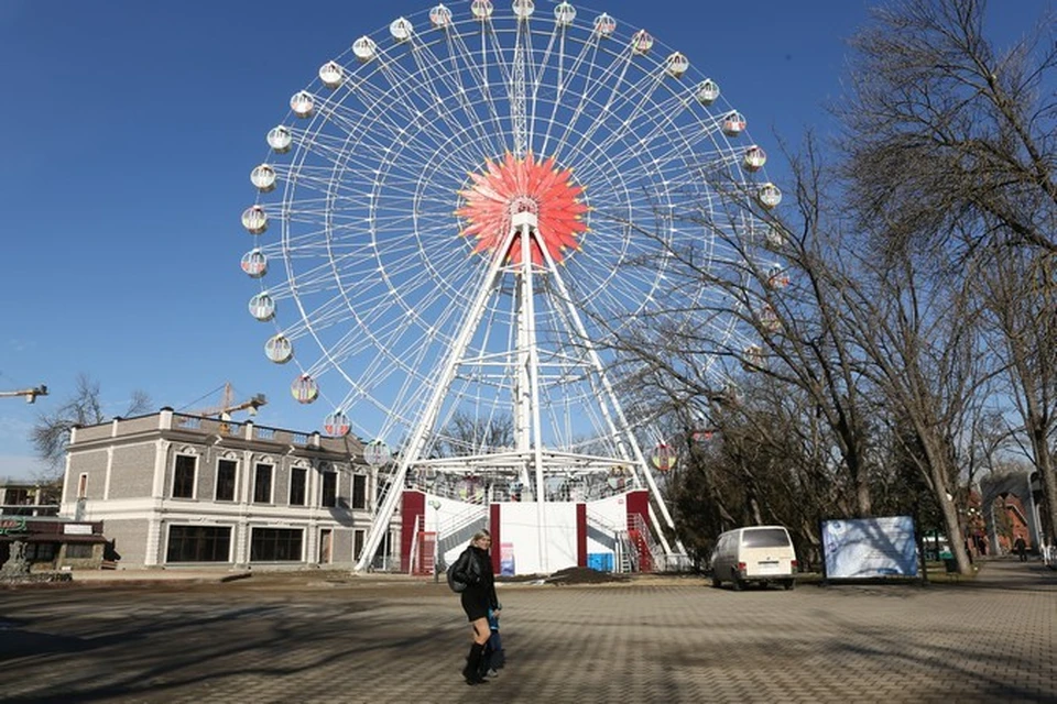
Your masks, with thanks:
M477 330L481 322L481 318L484 315L484 304L488 301L489 296L492 295L495 280L499 277L499 272L503 264L503 255L501 253L505 252L510 248L513 237L514 231L511 230L506 235L506 239L503 241L503 246L497 250L497 254L489 263L488 272L481 280L481 286L478 289L477 298L473 299L473 305L467 311L466 320L462 321L462 327L459 329L459 336L456 338L455 344L451 348L451 354L445 361L445 365L442 370L440 383L437 384L436 388L434 388L433 396L429 399L429 405L423 411L422 418L415 426L407 447L403 452L401 452L400 464L397 465L396 474L393 476L393 480L389 485L389 491L385 492L385 498L382 501L381 508L378 510L378 513L374 515L374 519L371 521L371 531L368 534L367 540L363 543L363 552L360 554L360 559L357 560L356 566L352 568L353 572L363 572L367 570L367 568L371 564L371 561L374 559L374 551L378 550L379 544L381 544L382 537L389 530L389 522L392 520L393 513L396 510L396 502L403 492L404 482L407 477L407 470L412 464L417 462L418 455L422 453L423 444L425 443L426 435L436 422L437 415L440 409L440 402L444 400L444 397L448 393L451 381L455 378L456 369L466 354L466 350L470 344L470 339L473 336L473 331Z

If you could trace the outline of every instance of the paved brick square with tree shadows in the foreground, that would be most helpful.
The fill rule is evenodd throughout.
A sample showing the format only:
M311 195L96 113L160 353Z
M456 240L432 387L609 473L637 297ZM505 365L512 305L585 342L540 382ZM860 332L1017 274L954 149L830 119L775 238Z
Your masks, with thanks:
M500 588L508 666L458 671L443 584L0 590L2 702L1057 702L1057 572L716 590L699 578Z

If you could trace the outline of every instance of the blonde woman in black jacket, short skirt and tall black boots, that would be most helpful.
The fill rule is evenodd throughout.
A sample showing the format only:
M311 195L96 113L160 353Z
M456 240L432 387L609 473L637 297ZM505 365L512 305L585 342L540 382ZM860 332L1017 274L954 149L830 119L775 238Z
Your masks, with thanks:
M451 578L465 584L462 590L462 610L473 629L473 645L466 659L462 676L467 684L486 682L481 676L481 658L484 645L491 636L488 626L488 610L499 612L499 600L495 598L495 575L492 573L492 559L488 549L492 544L492 537L487 530L479 530L473 535L470 544L466 547L459 559L451 565Z

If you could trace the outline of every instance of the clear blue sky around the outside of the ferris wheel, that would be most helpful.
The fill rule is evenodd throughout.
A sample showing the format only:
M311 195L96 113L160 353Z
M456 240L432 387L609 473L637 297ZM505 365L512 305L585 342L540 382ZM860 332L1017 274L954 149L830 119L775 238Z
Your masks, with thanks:
M264 359L246 312L248 174L322 63L431 4L0 0L0 391L52 391L34 406L0 399L0 477L36 470L30 427L78 373L99 382L111 415L133 389L157 407L208 406L217 394L195 402L230 381L269 396L257 422L317 427L319 409L290 398L291 370ZM869 4L577 7L682 51L776 155L775 135L795 145L806 128L831 132L820 106L840 92L844 41ZM1043 4L1003 22L1026 28Z

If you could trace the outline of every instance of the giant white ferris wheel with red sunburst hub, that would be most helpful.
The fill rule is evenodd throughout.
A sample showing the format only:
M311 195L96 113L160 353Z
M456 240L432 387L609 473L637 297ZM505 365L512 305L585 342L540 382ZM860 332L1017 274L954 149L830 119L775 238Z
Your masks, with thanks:
M781 195L686 56L606 13L547 9L438 4L357 38L293 95L252 169L242 268L261 283L250 314L274 326L265 354L297 367L293 397L323 407L327 433L399 449L361 562L399 490L479 477L543 502L619 475L651 491L671 550L629 413L635 365L609 343L673 294L721 308L722 292L667 276L680 238L740 265L724 242L747 222L717 176L764 207ZM676 227L680 210L710 226ZM740 334L730 317L693 323Z

